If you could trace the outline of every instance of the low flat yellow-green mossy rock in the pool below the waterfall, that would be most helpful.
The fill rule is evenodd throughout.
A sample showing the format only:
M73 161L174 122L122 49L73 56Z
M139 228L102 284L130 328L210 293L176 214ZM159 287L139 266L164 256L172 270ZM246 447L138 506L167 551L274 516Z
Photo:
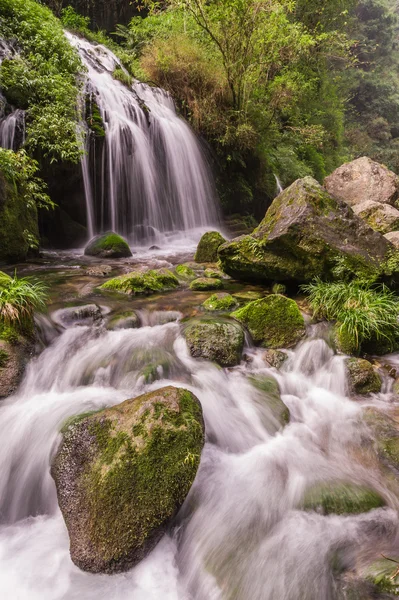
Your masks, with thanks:
M100 289L136 295L165 292L178 286L179 280L168 269L151 269L145 272L132 271L114 277L103 283Z

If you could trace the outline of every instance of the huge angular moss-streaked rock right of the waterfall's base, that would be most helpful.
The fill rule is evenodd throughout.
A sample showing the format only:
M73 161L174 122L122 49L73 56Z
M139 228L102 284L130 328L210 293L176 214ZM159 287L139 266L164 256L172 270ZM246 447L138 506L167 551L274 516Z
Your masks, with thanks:
M379 276L393 246L352 209L311 177L294 182L271 204L249 236L219 248L223 271L237 279L308 282L342 277L344 265L359 276Z

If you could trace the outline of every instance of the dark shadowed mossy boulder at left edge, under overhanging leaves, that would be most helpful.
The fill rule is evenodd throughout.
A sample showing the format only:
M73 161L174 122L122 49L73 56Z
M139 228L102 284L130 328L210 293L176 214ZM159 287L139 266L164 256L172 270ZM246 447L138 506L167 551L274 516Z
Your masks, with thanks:
M23 261L39 243L36 206L0 171L0 261Z

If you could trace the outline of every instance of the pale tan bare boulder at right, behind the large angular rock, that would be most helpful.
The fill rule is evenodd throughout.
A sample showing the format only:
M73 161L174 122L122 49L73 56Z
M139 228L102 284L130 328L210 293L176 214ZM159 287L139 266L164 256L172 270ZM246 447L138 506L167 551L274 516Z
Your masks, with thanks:
M399 178L384 165L363 156L336 169L324 185L332 196L350 206L366 200L395 205Z

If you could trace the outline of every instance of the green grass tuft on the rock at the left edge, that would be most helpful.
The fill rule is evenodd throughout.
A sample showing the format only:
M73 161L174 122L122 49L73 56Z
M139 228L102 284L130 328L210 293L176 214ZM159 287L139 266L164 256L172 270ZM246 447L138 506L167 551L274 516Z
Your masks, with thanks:
M46 286L29 277L0 271L0 324L29 330L36 310L46 306Z

